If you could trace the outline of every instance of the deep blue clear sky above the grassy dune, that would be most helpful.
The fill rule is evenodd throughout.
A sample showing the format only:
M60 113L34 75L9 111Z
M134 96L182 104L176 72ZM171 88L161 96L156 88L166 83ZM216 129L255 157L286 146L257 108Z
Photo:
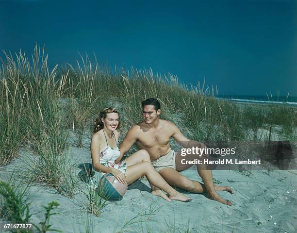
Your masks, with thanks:
M297 0L0 0L0 35L1 50L45 44L51 66L94 51L220 94L297 96Z

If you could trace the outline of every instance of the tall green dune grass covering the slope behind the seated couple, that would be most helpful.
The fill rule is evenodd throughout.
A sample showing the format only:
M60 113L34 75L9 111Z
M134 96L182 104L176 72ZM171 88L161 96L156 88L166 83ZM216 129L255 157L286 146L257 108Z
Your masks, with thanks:
M281 127L284 138L296 141L296 108L285 105L245 105L216 99L217 88L202 83L184 85L174 75L155 74L152 69L112 70L86 56L75 65L48 68L44 47L35 46L32 58L24 53L4 53L0 70L0 165L18 156L29 144L35 153L30 172L50 186L60 187L66 174L65 151L69 133L82 137L92 133L99 111L119 108L122 137L142 121L141 101L157 98L161 117L174 121L194 140L268 140L263 129ZM59 161L56 165L53 161ZM67 167L67 168L66 168ZM49 172L49 170L51 172ZM44 174L43 177L41 175Z

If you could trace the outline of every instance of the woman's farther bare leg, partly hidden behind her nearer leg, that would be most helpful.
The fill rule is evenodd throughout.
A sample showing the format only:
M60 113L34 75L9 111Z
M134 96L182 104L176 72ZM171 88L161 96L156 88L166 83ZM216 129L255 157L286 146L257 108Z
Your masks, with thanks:
M142 162L151 163L148 151L146 151L146 150L138 150L137 152L130 155L127 159L125 159L125 162L126 162L127 166L139 164ZM159 196L167 201L170 201L168 196L161 189L155 187L151 183L149 183L149 184L151 187L151 194L153 194L155 196Z

